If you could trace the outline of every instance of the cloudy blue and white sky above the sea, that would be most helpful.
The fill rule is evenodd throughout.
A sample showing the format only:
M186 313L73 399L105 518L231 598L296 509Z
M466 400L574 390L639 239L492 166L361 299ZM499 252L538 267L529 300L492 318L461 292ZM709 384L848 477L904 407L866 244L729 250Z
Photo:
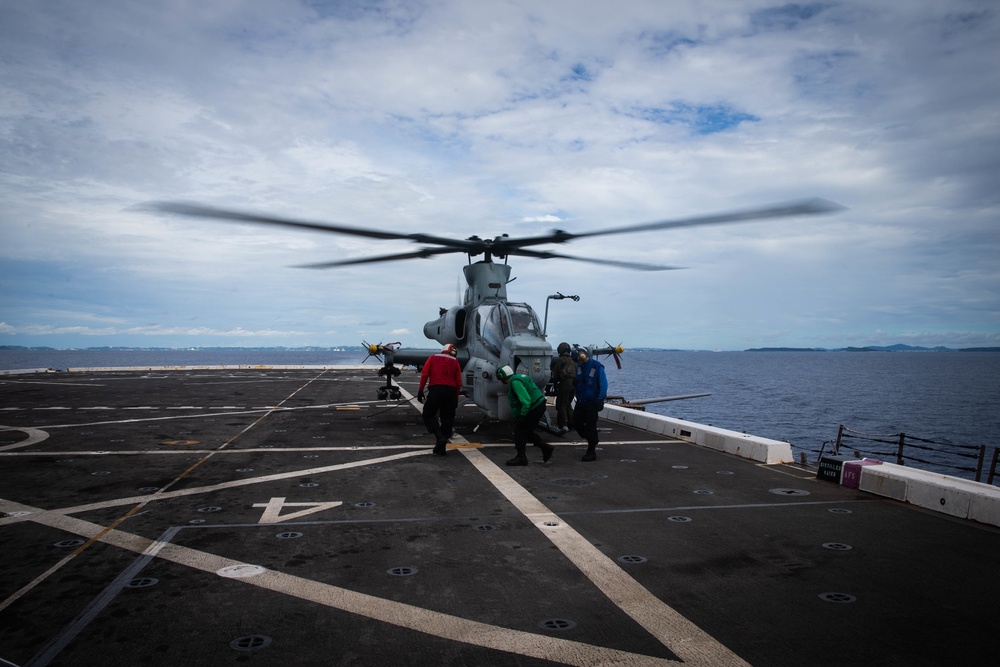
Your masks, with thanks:
M809 197L845 210L511 258L553 341L1000 346L995 0L0 0L0 345L423 336L464 255ZM579 301L552 300L562 293Z

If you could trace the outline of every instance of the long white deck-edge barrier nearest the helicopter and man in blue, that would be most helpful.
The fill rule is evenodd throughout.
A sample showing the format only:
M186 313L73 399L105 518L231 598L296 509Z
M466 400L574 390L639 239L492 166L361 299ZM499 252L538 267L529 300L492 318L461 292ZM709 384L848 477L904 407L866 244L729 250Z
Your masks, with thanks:
M604 410L601 411L601 417L626 426L686 440L761 463L793 463L795 461L792 457L792 446L780 440L728 431L724 428L622 408L617 405L605 405Z

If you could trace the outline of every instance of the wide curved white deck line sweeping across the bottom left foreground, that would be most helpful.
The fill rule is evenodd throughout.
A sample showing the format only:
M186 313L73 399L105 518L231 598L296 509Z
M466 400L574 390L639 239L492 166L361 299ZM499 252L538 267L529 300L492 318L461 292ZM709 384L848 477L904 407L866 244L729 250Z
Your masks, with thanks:
M39 510L36 507L12 501L0 499L0 511L28 511L31 512L32 521L42 525L64 530L89 539L96 537L105 544L127 549L138 554L152 554L157 558L218 576L222 576L219 572L224 568L252 567L251 563L216 556L172 543L150 540L121 530L107 530L103 526L89 521L55 512ZM365 593L358 593L346 588L303 579L275 570L265 569L257 576L230 579L230 581L239 581L251 586L289 595L300 600L308 600L326 607L415 630L434 637L441 637L472 646L514 653L540 660L549 660L564 665L574 665L577 667L592 667L593 665L634 667L635 665L649 665L652 667L655 665L676 666L679 664L676 661L665 658L655 658L639 653L630 653L628 651L480 623L461 618L460 616L423 609Z

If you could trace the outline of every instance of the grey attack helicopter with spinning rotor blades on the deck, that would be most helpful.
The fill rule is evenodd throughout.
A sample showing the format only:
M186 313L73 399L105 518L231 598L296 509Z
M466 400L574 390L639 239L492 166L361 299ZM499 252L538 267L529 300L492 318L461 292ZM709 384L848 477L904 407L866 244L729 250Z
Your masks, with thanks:
M507 388L496 379L496 369L509 365L515 371L531 376L538 386L544 387L549 380L549 367L553 358L553 347L546 339L547 332L542 328L535 310L527 303L509 301L507 298L507 284L511 282L512 267L507 263L510 257L565 259L641 271L674 270L682 267L565 255L536 248L537 246L564 244L596 236L817 215L843 209L842 206L834 202L813 198L736 212L660 220L582 233L554 230L548 234L522 238L511 238L507 234L502 234L492 239L478 236L453 239L433 234L405 234L381 229L364 229L339 224L293 220L186 202L150 202L143 205L142 208L175 215L278 225L377 240L404 240L422 246L412 252L306 264L301 265L300 268L327 269L429 258L445 254L461 253L467 255L468 263L462 267L467 283L463 303L451 308L441 308L437 319L427 322L423 331L427 338L435 340L441 345L450 343L458 348L458 360L463 373L463 390L489 417L500 420L510 420L511 413L507 402ZM480 255L482 259L473 261ZM498 260L502 260L502 263ZM563 295L560 294L558 297L563 297ZM385 378L385 385L378 389L380 400L399 400L401 398L398 385L393 383L393 379L398 377L401 372L397 365L412 365L420 368L431 355L438 353L437 349L404 350L399 347L398 343L366 343L366 347L370 356L375 356L383 362L383 366L378 371L379 375ZM621 346L611 345L603 347L590 345L586 349L590 356L614 355L616 361L618 355L623 351Z

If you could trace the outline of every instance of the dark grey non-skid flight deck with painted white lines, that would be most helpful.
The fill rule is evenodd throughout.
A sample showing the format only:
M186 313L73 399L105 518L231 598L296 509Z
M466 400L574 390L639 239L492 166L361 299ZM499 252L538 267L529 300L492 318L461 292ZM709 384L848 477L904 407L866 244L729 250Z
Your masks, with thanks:
M380 382L0 378L0 658L995 664L1000 531L620 425L507 468L463 407L432 456Z

